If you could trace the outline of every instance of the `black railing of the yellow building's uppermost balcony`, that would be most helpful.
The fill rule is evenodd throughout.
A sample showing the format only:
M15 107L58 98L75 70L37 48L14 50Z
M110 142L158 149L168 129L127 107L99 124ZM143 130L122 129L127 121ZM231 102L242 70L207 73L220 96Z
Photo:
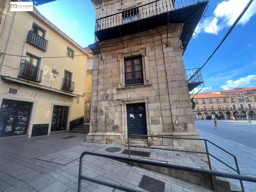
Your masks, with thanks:
M36 34L34 31L29 30L28 36L27 36L27 42L36 46L42 51L47 51L48 46L48 40L41 37L40 35Z

